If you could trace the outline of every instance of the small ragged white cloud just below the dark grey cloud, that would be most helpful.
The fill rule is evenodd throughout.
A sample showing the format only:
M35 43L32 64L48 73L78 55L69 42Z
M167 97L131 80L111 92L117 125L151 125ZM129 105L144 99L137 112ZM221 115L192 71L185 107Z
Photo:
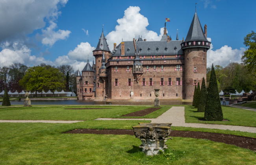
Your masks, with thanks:
M58 40L64 40L69 37L71 31L69 30L58 30L54 31L57 28L57 24L53 21L50 21L50 26L46 30L42 29L43 39L42 44L52 46Z

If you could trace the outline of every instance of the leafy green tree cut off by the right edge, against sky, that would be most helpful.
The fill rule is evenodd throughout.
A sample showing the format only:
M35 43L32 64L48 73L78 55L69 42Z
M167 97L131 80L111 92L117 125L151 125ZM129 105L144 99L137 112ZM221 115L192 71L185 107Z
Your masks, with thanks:
M249 72L256 77L256 33L252 31L244 38L243 44L248 47L241 60L247 65Z

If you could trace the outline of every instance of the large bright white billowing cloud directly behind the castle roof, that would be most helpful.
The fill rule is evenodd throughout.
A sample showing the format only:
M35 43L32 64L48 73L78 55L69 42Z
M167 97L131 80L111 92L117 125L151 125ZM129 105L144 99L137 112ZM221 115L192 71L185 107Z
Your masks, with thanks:
M113 49L113 43L120 43L122 40L132 40L142 35L147 40L160 40L163 35L163 28L161 28L161 35L156 32L148 30L148 18L139 13L141 9L137 6L130 6L124 11L124 16L117 20L118 25L115 30L106 35L108 39L109 49Z

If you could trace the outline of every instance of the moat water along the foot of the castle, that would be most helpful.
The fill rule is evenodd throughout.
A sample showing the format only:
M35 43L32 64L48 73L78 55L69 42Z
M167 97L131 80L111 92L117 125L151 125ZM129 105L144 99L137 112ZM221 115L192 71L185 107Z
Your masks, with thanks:
M228 105L229 101L226 101ZM106 105L154 105L154 102L131 102L131 101L115 101L108 102ZM191 102L181 101L160 101L160 105L191 105ZM223 102L221 101L221 105ZM24 105L24 101L11 101L11 105ZM105 105L105 101L85 101L85 100L32 100L31 105Z

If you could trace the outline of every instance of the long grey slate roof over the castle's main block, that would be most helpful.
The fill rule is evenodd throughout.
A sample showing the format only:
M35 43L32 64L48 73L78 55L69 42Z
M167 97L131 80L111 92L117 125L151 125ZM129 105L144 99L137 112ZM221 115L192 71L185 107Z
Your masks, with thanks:
M151 55L183 55L181 49L182 40L171 40L167 41L143 41L136 42L136 46L139 48L141 56ZM175 49L176 48L176 49ZM125 56L134 56L135 49L133 41L124 42ZM121 44L119 44L113 54L115 56L121 56Z

